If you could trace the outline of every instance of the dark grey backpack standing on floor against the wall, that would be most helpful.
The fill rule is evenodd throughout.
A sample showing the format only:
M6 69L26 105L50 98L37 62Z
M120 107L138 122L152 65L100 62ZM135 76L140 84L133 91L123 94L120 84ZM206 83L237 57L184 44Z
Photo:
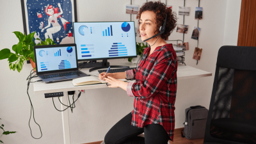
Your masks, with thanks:
M203 106L191 106L185 110L186 120L184 124L184 134L182 138L198 139L204 138L205 125L208 116L208 109Z

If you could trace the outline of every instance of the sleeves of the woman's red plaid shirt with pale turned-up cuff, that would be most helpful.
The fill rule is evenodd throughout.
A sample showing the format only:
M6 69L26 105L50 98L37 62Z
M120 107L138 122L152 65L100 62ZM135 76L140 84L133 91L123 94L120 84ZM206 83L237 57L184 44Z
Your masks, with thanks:
M127 94L130 97L141 97L141 99L154 97L159 92L159 89L163 88L166 81L175 73L177 69L175 65L176 60L172 52L163 49L159 56L157 56L157 60L145 80L128 83ZM143 70L141 76L144 72L145 70Z

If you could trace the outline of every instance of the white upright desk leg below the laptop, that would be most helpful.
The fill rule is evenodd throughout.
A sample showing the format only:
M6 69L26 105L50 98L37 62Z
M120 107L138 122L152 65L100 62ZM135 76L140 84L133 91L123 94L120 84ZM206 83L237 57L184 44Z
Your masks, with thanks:
M61 97L61 102L68 106L67 92L63 92L64 96ZM61 104L61 110L67 108ZM70 134L69 134L69 120L68 120L68 109L61 112L62 114L62 126L63 126L63 136L64 144L70 144Z

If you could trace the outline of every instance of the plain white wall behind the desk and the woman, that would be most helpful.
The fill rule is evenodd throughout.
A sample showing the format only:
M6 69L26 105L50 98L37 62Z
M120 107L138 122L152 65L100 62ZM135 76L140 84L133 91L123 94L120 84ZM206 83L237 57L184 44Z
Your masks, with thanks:
M132 0L133 4L140 6L145 2ZM165 1L162 2L165 3ZM0 3L0 50L6 47L11 49L12 45L18 42L12 32L23 31L20 1L0 0ZM130 20L130 15L125 13L125 5L130 3L129 0L77 0L77 18L80 22ZM167 0L167 4L172 4L173 10L177 12L178 6L183 6L183 1ZM237 44L241 0L200 1L200 6L203 7L203 19L199 22L201 31L198 47L203 51L198 65L196 60L192 59L197 41L191 39L193 27L197 26L197 20L194 17L198 0L186 1L186 6L191 7L191 13L185 17L185 24L189 25L188 34L185 34L184 38L185 42L189 42L185 62L191 67L212 72L212 77L178 81L175 128L183 126L184 111L189 106L202 105L209 108L218 49L221 45ZM178 17L178 23L182 24L183 17L179 15ZM132 15L132 20L136 20L135 15ZM176 39L181 40L182 34L174 31L169 40ZM140 37L136 40L141 42ZM2 136L0 140L5 143L63 143L61 113L54 109L51 99L45 99L44 95L33 94L33 84L29 88L29 94L35 109L36 122L40 124L43 136L35 140L30 135L28 127L30 104L26 94L26 77L31 70L31 65L25 64L20 73L9 70L7 60L1 60L0 65L0 118L2 118L0 124L4 124L6 131L17 131L16 134ZM74 112L71 113L69 110L71 142L88 143L104 140L106 132L120 118L132 111L132 104L133 99L127 97L124 90L120 88L87 90L77 101ZM60 104L57 104L57 107L60 109ZM31 128L33 136L38 138L40 131L33 121L31 121Z

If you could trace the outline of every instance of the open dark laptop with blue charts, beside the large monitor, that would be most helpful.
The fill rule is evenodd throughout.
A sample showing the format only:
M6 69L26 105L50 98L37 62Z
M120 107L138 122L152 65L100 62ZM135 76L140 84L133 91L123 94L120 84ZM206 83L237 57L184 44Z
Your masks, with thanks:
M78 69L76 44L34 46L36 74L44 83L88 76Z

